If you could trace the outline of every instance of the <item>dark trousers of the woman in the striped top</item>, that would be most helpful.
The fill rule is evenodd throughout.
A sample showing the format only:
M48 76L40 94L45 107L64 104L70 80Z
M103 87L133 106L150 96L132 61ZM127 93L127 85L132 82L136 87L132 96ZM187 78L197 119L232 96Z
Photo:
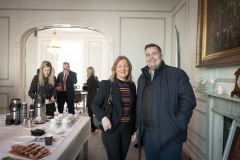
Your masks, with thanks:
M131 143L130 123L119 122L113 132L102 131L102 141L109 160L125 160Z

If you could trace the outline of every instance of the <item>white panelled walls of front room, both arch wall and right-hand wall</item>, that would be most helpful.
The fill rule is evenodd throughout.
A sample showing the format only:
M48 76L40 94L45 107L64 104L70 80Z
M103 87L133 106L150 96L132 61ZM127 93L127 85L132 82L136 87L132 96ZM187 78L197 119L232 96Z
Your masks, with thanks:
M71 3L70 3L71 2ZM88 24L101 28L112 38L106 51L110 73L113 60L126 55L133 64L134 80L145 65L143 51L147 43L157 43L167 64L176 66L175 28L180 32L181 68L194 77L216 79L226 94L233 90L234 72L240 66L196 68L197 0L0 0L0 108L7 108L10 100L24 92L19 72L25 47L21 46L24 32L38 25L59 23ZM20 38L19 38L20 37ZM230 80L229 80L230 79ZM206 159L206 96L195 93L197 107L189 124L188 140L183 149L192 159ZM1 111L0 111L1 112ZM3 113L3 112L1 112Z

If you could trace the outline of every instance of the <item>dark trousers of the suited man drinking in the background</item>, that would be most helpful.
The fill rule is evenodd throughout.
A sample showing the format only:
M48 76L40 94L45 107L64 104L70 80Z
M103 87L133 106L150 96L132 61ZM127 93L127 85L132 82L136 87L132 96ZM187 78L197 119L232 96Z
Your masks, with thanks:
M67 103L68 106L68 113L75 114L74 111L74 98L73 99L68 99L67 98L67 92L62 91L57 94L57 103L58 103L58 112L63 113L64 109L64 103Z

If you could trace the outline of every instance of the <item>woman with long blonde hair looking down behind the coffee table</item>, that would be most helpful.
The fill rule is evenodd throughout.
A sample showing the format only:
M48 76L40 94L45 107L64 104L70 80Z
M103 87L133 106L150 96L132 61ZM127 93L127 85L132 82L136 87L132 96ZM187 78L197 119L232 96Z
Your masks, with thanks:
M53 116L55 108L56 78L52 64L49 61L43 61L39 68L39 73L33 77L28 95L36 99L37 94L43 94L46 98L46 115Z

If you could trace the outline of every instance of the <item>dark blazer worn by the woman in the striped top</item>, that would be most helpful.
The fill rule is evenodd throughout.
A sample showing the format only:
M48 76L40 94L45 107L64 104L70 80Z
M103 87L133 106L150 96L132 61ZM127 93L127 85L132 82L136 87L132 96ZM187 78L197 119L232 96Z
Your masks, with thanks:
M136 86L134 83L127 82L130 90L130 127L132 134L134 133L135 129L135 108L136 108ZM93 113L97 117L97 119L101 120L104 116L106 116L105 112L101 109L103 104L106 104L108 99L110 89L110 80L103 80L100 83L98 88L97 94L92 102L91 108ZM113 106L113 113L112 119L110 120L112 123L112 129L107 131L107 133L111 133L114 128L119 123L122 113L122 97L120 90L118 88L117 82L112 82L112 106Z

